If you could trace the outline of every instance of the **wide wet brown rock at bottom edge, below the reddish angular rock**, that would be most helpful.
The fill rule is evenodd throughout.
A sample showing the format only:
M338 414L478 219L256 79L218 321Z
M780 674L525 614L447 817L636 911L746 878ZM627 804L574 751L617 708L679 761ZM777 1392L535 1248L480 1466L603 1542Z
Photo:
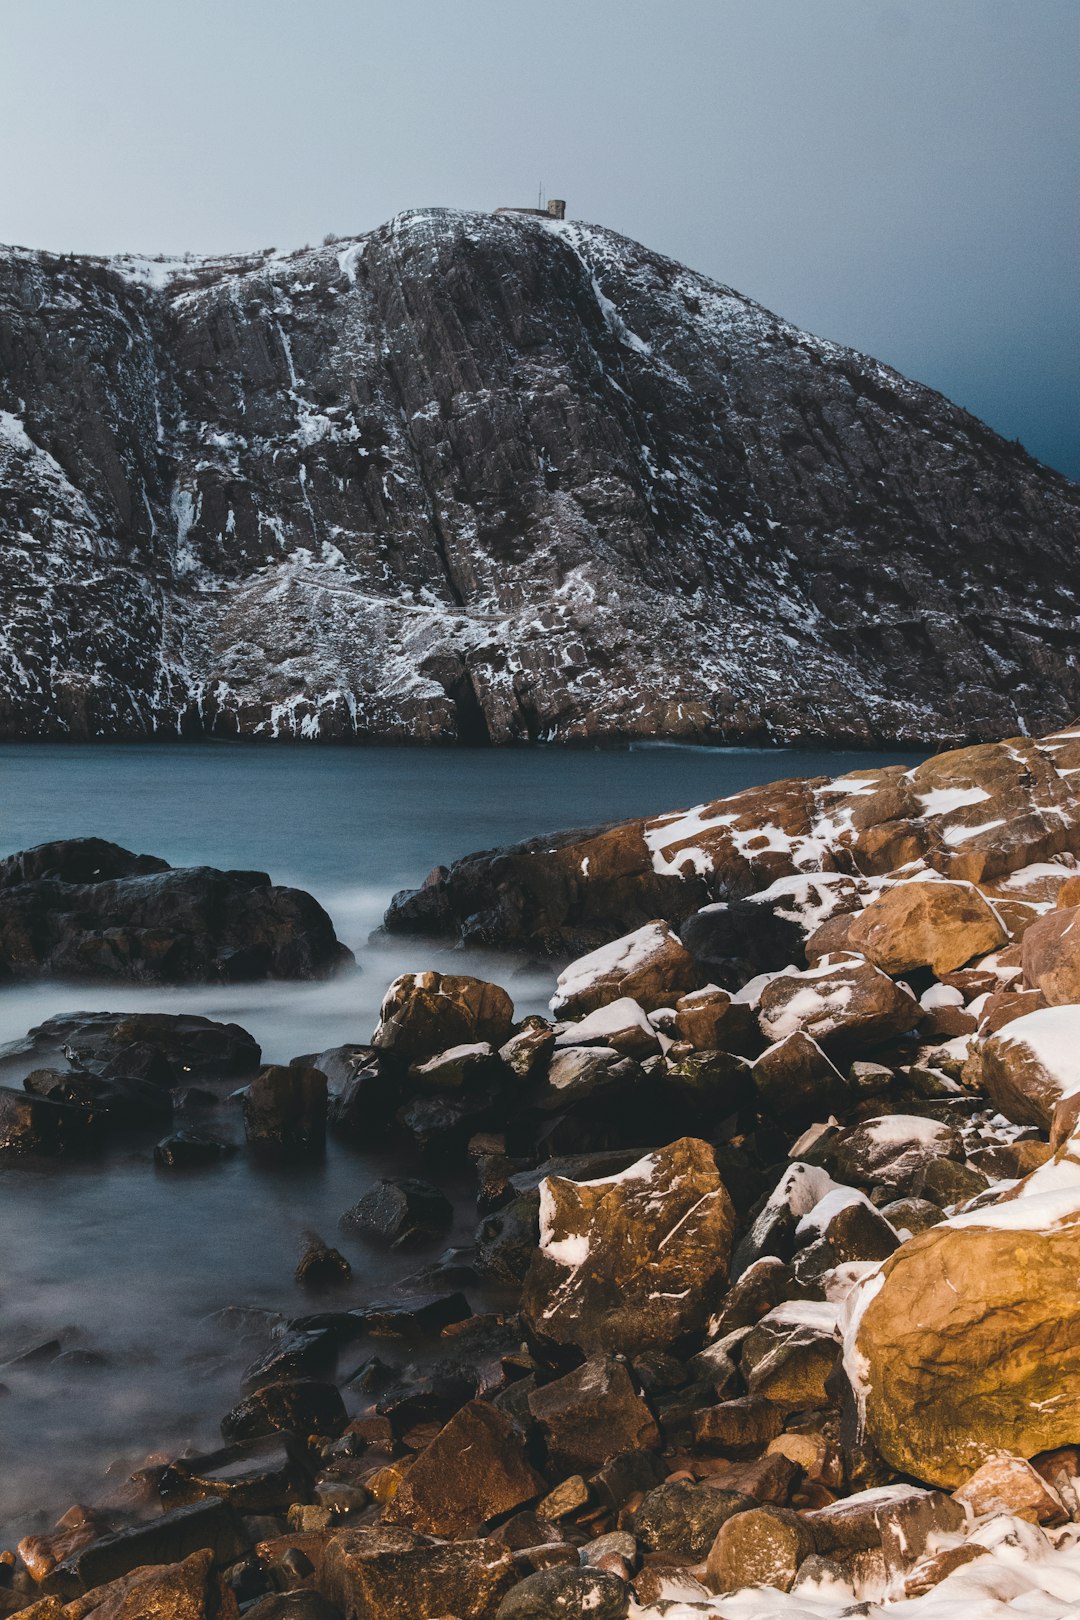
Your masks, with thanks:
M508 1549L494 1541L432 1542L400 1526L338 1529L319 1565L322 1596L364 1620L491 1620L515 1578Z

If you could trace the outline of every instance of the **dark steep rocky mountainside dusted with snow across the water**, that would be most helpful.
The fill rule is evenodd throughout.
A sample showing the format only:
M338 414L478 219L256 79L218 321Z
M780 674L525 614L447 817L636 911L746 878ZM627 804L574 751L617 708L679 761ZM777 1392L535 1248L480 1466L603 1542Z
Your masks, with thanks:
M0 251L0 734L978 739L1080 706L1080 494L612 232Z

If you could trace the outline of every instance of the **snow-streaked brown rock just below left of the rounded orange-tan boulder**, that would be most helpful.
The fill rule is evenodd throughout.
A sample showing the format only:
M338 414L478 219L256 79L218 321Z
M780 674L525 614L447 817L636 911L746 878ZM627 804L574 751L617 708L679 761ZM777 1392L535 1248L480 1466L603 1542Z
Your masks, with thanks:
M902 1035L918 1022L918 1001L860 957L826 957L803 974L771 978L761 991L766 1040L803 1034L826 1051L853 1051Z

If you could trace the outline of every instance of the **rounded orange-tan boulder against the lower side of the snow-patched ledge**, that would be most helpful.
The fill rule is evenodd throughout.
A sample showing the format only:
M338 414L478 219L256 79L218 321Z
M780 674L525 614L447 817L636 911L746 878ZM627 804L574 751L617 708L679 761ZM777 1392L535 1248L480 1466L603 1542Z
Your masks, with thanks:
M972 883L908 878L892 883L853 919L853 951L886 974L933 967L947 974L1009 938L1001 919Z

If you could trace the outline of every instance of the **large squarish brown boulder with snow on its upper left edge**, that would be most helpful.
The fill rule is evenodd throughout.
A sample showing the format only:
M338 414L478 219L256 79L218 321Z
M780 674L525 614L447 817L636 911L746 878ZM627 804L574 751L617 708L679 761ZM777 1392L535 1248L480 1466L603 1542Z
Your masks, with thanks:
M539 1191L539 1249L521 1296L538 1338L635 1354L704 1327L735 1228L708 1142L682 1137L615 1176L551 1176Z

